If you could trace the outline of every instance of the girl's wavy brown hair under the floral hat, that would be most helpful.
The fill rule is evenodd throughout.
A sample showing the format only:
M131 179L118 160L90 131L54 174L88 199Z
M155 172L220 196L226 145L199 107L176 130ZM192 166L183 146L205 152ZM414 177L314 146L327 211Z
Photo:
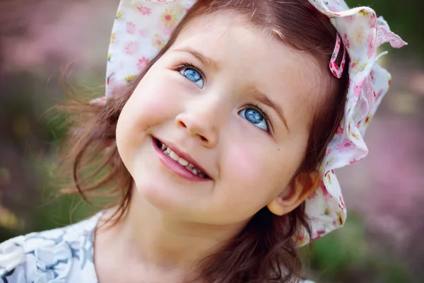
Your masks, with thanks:
M65 147L64 161L72 164L73 179L65 192L78 192L88 202L93 195L112 196L114 201L106 207L118 207L114 223L122 219L131 200L132 178L114 144L119 114L144 74L172 45L180 30L199 15L223 10L248 16L249 21L269 30L286 45L312 55L322 67L323 81L329 82L331 93L324 95L313 111L305 159L296 175L316 170L341 122L346 102L347 71L336 79L328 67L336 42L334 26L307 0L201 0L127 91L107 105L73 101L66 106L77 120L73 121ZM346 66L348 63L347 58ZM87 171L94 172L86 176ZM211 283L295 282L300 278L302 264L293 238L301 227L310 232L304 204L284 216L273 215L265 207L226 248L200 263L201 277Z

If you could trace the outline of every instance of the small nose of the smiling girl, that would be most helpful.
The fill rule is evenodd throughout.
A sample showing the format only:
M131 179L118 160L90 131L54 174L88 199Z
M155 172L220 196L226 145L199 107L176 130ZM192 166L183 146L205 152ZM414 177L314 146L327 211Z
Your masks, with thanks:
M194 107L193 110L185 111L175 117L175 124L180 129L185 129L191 137L199 139L206 147L216 146L218 142L216 109L201 109Z

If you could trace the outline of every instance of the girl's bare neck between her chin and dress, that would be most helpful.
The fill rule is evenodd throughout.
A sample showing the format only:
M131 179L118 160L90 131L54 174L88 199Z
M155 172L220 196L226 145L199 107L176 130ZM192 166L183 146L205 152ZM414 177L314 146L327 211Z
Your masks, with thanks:
M180 221L158 211L134 190L129 211L114 227L112 238L129 260L186 276L198 274L196 264L218 253L244 226Z

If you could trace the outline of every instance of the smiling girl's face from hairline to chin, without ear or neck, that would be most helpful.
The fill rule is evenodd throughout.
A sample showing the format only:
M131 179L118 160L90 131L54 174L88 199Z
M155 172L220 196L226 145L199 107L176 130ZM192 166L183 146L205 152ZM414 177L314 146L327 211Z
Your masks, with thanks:
M179 220L245 223L288 190L324 99L320 76L307 54L234 14L196 18L119 117L136 192Z

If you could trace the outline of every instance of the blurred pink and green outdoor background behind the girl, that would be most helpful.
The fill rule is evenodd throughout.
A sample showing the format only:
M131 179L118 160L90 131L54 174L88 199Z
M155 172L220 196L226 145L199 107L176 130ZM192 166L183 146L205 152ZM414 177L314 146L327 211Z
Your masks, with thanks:
M69 83L102 96L117 3L2 1L0 242L95 211L79 197L56 197L65 129L51 108L66 99L60 77L67 66ZM338 171L348 221L302 250L308 275L323 283L424 282L424 1L348 4L375 8L409 45L381 61L393 83L365 137L370 154Z

